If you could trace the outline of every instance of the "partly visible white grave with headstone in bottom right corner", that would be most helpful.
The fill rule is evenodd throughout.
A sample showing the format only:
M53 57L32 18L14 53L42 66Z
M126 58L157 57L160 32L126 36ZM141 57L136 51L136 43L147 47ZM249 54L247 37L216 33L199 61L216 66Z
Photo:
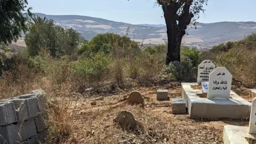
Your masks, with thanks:
M223 129L223 142L231 143L256 143L256 98L252 101L249 127L225 125Z

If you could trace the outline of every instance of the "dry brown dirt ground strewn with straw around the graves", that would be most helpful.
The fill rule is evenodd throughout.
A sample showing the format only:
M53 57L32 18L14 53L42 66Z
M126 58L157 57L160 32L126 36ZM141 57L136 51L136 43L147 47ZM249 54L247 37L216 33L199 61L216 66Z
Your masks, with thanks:
M223 143L223 126L248 126L249 122L231 119L209 121L191 119L188 114L172 114L171 101L157 101L157 89L168 89L169 98L181 98L178 82L153 87L138 87L145 98L145 107L129 106L123 101L131 91L124 91L100 99L78 98L79 105L73 117L73 135L66 143ZM245 87L232 87L246 100L251 100ZM77 99L77 98L76 98ZM96 101L97 105L91 106ZM130 110L140 127L126 131L113 123L119 110Z

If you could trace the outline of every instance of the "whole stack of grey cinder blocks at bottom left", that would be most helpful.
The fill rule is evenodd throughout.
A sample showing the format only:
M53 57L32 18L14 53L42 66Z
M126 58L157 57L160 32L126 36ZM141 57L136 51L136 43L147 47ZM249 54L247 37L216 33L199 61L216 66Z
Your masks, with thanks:
M44 91L31 91L0 101L0 143L44 142L47 129L43 122L45 112Z

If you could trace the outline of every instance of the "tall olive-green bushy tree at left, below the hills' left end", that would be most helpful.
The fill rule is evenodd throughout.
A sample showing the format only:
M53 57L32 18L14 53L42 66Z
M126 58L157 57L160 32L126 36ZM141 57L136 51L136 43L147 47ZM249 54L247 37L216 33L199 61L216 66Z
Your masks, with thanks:
M38 55L46 48L50 50L52 57L61 57L65 54L75 54L81 36L73 29L55 26L53 20L38 17L35 23L30 25L29 33L25 35L25 42L31 56Z

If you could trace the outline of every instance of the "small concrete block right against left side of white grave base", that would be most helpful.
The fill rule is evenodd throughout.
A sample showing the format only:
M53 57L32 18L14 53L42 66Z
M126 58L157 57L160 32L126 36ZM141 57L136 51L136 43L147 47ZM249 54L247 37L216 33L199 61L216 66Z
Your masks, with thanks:
M186 102L183 98L172 99L172 113L173 114L184 114L186 113Z

